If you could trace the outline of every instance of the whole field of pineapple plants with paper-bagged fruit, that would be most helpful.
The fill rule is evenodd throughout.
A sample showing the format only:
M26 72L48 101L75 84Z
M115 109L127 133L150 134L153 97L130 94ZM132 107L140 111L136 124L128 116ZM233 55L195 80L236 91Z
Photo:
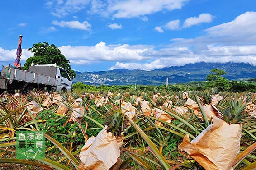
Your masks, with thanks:
M167 87L0 96L0 170L255 170L256 94ZM20 159L18 132L44 132Z

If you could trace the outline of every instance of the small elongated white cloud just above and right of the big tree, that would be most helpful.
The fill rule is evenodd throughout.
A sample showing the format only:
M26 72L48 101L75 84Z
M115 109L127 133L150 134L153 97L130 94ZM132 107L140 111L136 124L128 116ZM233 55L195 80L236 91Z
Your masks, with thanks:
M56 20L53 20L52 24L58 25L60 27L81 29L81 30L85 30L85 31L89 31L91 28L90 23L88 23L87 21L80 23L79 21L56 21Z

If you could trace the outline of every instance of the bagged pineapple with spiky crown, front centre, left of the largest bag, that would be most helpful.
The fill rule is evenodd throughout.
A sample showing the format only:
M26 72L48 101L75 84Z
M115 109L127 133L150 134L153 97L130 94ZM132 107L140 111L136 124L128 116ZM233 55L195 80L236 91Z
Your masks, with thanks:
M105 128L96 137L90 137L81 149L79 170L119 169L121 148L123 146L123 118L121 106L109 109L105 114Z

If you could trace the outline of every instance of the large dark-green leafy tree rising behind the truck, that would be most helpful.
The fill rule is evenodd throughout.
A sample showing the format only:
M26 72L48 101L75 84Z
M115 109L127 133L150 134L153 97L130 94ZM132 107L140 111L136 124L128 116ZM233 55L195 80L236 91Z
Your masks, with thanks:
M44 64L57 64L57 66L66 69L69 76L76 78L76 73L74 70L71 70L70 61L61 53L61 51L54 45L49 45L48 42L33 44L32 48L28 49L34 53L34 56L29 57L23 69L28 70L31 63L44 63Z

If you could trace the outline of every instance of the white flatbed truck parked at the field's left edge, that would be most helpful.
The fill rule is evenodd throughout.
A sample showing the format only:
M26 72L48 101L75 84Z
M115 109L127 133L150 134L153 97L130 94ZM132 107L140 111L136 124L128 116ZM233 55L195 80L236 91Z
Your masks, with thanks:
M28 70L3 66L0 76L0 90L21 90L28 92L33 88L53 91L71 91L72 81L66 70L57 64L34 64Z

